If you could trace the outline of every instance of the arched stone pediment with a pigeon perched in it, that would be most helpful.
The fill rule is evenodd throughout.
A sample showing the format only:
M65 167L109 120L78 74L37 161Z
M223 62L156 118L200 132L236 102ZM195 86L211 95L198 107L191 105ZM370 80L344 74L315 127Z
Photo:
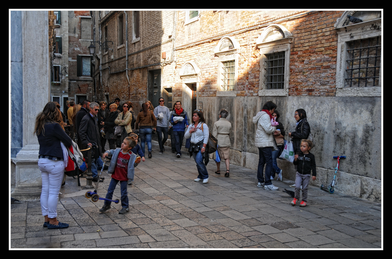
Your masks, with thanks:
M353 17L358 18L358 20L353 19ZM354 22L350 21L350 18ZM343 15L340 16L340 18L336 19L334 27L338 29L341 27L348 27L354 24L358 25L352 27L358 27L359 25L364 26L365 24L378 21L381 22L381 11L345 11Z

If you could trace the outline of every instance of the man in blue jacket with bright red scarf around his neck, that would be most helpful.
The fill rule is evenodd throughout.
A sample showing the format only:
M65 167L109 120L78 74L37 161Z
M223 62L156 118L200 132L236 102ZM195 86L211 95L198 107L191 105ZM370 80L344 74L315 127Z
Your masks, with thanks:
M181 157L181 146L182 140L184 139L184 134L186 128L189 126L189 117L187 112L181 108L181 102L177 101L174 105L175 109L170 117L170 123L173 125L174 139L176 139L176 153L177 157ZM174 119L174 117L183 117L182 121ZM178 119L178 118L177 118Z

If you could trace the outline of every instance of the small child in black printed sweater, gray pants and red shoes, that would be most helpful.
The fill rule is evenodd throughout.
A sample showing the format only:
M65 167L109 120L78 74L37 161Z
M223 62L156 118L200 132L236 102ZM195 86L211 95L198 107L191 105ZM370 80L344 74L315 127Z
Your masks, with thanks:
M316 180L316 161L314 155L310 153L312 141L308 139L301 140L301 152L294 156L293 164L297 166L297 173L295 177L295 194L291 205L294 206L299 200L300 186L302 186L302 201L299 204L301 207L306 206L308 198L308 185L310 181L310 172L312 171L312 180Z

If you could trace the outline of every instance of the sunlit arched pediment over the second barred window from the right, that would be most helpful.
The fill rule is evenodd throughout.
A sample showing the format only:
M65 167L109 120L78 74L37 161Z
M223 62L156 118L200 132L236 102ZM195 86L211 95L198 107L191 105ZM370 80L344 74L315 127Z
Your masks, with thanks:
M292 34L280 24L271 24L265 28L263 33L257 38L256 46L286 43L292 41Z

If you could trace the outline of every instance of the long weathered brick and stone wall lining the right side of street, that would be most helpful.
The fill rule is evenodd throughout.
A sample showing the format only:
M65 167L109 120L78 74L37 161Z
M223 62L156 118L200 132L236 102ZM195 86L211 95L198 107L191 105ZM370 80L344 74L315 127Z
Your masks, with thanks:
M159 89L162 94L168 91L172 101L181 100L188 113L191 113L195 103L198 108L202 107L206 123L210 127L217 120L219 109L227 108L228 120L233 125L233 133L230 134L230 162L249 168L257 168L258 160L258 149L253 143L256 128L252 123L252 116L260 111L266 101L272 100L281 112L281 122L287 131L292 131L295 126L292 115L295 109L303 108L307 111L313 137L319 143L312 152L316 156L319 170L325 170L321 174L324 178L318 179L316 184L330 181L328 170L334 163L330 157L332 153L338 155L335 152L343 152L350 160L346 160L345 168L342 164L342 173L347 174L345 177L354 177L352 179L355 180L352 181L361 184L354 188L348 184L351 180L347 180L347 184L343 184L343 180L341 192L358 197L367 193L368 199L378 200L378 194L373 192L379 193L381 189L372 186L381 186L381 160L371 162L367 158L361 159L354 150L361 150L364 155L362 157L366 157L365 150L374 153L381 149L379 144L370 145L365 150L362 146L369 138L377 142L377 136L381 137L381 124L377 123L380 116L375 118L369 115L361 117L360 121L356 119L364 114L363 109L380 109L381 91L380 88L345 89L337 81L337 67L340 62L344 68L346 62L342 58L345 43L341 40L343 43L338 44L339 31L344 33L344 26L348 25L347 31L352 29L357 33L374 28L377 34L381 25L373 26L373 18L369 18L367 24L355 29L356 25L347 21L348 13L350 12L200 11L198 17L188 19L189 11L140 11L140 37L135 39L132 36L133 11L127 11L128 37L125 39L124 29L124 42L128 42L129 70L126 71L126 48L118 45L118 16L123 15L123 12L94 11L96 40L99 38L103 41L104 27L107 26L107 40L113 41L114 49L107 53L96 52L98 55L95 57L100 58L101 64L101 71L99 62L95 63L94 71L97 100L103 100L109 94L110 101L116 97L131 100L134 110L138 111L142 102L154 98L152 91ZM354 11L350 14L353 13ZM345 23L343 27L342 20ZM336 24L340 27L336 27ZM279 31L284 34L283 38L264 42L263 37L270 35L267 34L267 29L273 31L274 28L281 28ZM366 38L366 34L358 37ZM230 39L232 46L221 51L221 46L218 45L224 38ZM163 52L166 54L165 60L161 58ZM287 53L284 59L287 64L283 65L282 89L270 89L265 84L265 58L273 52ZM235 63L234 91L222 90L222 64L228 60ZM189 72L191 70L185 73L186 66L190 64L194 73ZM160 85L154 89L151 82L153 72L157 72L160 77L157 81ZM339 97L338 88L343 88L340 96L349 98ZM371 91L370 95L367 94ZM345 116L341 111L345 111ZM366 130L360 130L362 127ZM285 177L292 178L295 173L292 164L279 161L279 166L284 168Z

